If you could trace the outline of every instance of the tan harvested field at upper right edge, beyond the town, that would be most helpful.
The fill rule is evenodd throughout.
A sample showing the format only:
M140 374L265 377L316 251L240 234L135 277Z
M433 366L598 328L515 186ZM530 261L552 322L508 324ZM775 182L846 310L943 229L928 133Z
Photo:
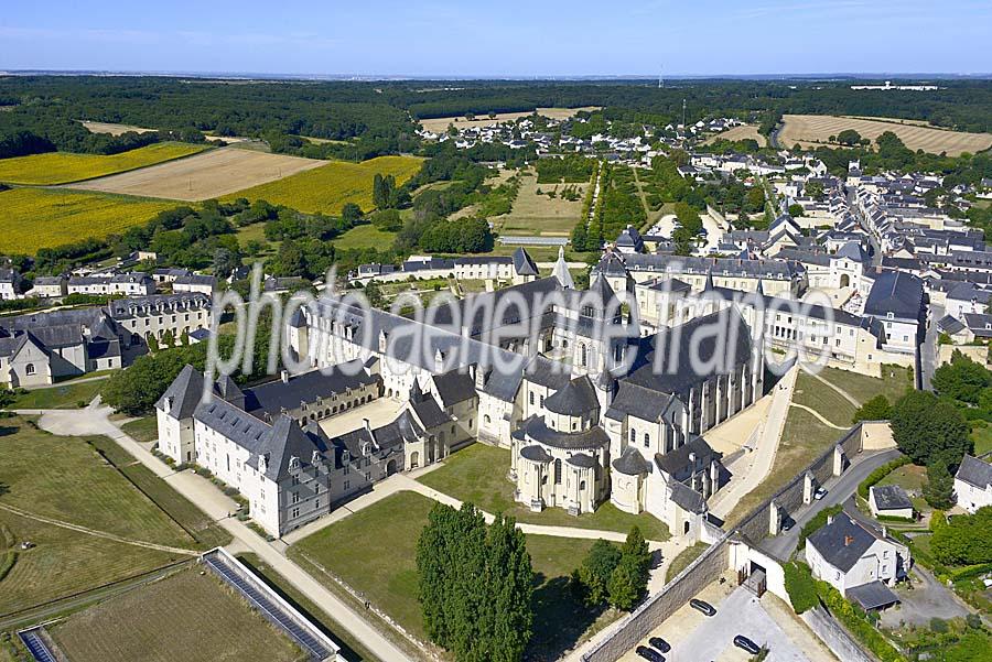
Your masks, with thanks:
M862 138L874 141L885 131L892 131L913 151L923 150L939 154L947 152L949 156L958 156L962 152L980 152L992 146L992 133L966 133L948 131L914 123L896 121L869 120L859 118L833 117L829 115L786 115L784 126L778 133L778 141L791 148L797 142L804 148L831 145L831 135L844 129L854 129Z

